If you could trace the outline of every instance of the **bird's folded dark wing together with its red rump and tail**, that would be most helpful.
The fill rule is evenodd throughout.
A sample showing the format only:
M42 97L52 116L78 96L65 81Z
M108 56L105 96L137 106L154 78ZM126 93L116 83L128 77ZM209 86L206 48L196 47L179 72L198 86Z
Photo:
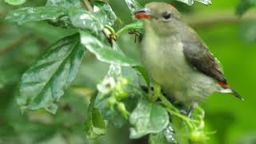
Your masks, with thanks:
M204 42L198 37L198 34L189 26L186 28L188 29L182 29L182 33L179 35L180 38L182 38L183 52L186 61L196 70L216 79L219 86L222 86L224 89L229 89L231 94L243 100L240 94L230 89L217 58L214 58L214 55L210 53Z

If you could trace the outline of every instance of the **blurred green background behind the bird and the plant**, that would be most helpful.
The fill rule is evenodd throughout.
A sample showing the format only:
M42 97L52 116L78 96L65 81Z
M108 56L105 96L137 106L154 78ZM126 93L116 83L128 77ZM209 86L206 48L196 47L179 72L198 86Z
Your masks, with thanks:
M144 5L152 1L139 2ZM241 102L229 94L213 94L201 103L206 111L206 127L209 132L215 131L207 143L256 143L256 13L251 9L238 18L235 9L239 2L213 0L210 6L173 2L222 62L230 85L246 99ZM44 0L28 1L22 6L43 6L44 3ZM121 21L117 28L131 21L125 2L110 0L110 5ZM147 143L146 138L129 140L127 127L117 129L113 126L97 141L85 139L82 125L89 97L108 69L89 53L83 59L78 78L62 98L58 114L40 110L20 113L15 96L22 73L50 44L73 34L74 30L56 28L46 22L22 26L6 22L5 15L18 7L0 2L0 144ZM130 57L139 58L139 44L134 44L134 36L123 34L118 43Z

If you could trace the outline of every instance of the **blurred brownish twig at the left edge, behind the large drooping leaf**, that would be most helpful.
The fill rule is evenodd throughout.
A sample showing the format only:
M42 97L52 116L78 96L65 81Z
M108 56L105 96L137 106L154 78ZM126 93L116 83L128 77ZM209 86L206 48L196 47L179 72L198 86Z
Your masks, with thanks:
M32 36L32 34L26 34L26 35L22 36L21 38L18 38L17 40L15 40L14 42L10 42L9 45L0 49L0 55L5 54L6 52L8 52L10 50L13 50L14 48L18 47L23 42L26 42L26 40L28 38L31 38L31 36Z

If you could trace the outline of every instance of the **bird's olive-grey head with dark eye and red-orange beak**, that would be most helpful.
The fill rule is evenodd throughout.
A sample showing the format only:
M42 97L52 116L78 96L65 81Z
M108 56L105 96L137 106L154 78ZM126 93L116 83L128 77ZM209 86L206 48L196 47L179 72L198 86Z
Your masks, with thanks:
M181 14L174 6L165 2L150 2L145 8L135 11L134 17L142 20L146 29L154 30L160 35L173 33L181 24Z

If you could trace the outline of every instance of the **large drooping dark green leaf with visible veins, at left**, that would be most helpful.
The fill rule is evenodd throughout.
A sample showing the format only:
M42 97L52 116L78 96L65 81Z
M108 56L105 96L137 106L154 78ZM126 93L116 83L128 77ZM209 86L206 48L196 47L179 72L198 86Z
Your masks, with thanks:
M78 73L84 48L79 35L62 38L22 75L18 105L21 110L56 113L57 102Z

